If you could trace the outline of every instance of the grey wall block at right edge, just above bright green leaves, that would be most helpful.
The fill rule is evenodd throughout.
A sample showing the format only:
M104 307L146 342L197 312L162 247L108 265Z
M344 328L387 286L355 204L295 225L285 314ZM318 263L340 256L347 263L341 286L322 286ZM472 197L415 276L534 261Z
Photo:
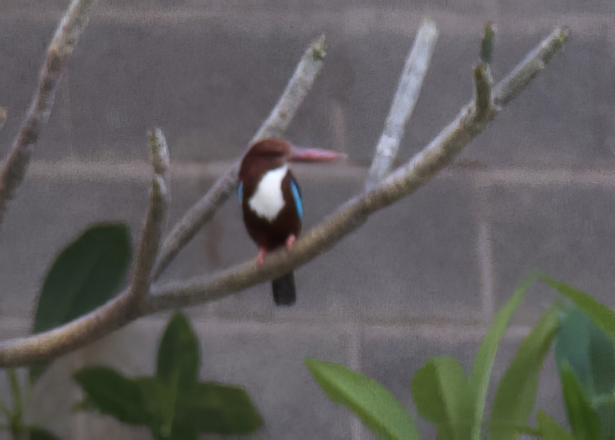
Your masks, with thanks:
M498 185L490 200L498 307L534 269L615 305L610 189ZM517 319L533 323L555 297L552 289L534 286Z

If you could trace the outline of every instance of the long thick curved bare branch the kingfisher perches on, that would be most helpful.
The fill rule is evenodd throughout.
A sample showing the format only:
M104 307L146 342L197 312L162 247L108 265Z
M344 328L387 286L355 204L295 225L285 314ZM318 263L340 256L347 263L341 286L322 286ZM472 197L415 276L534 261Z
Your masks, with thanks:
M461 109L453 122L445 127L431 143L427 144L408 163L397 168L368 191L345 203L321 224L309 230L295 243L292 251L280 250L271 253L262 267L257 267L255 262L251 260L225 270L214 277L197 277L182 283L154 285L150 289L149 296L145 297L141 293L135 293L135 281L129 289L112 301L71 323L30 337L1 342L0 366L28 364L39 359L69 352L120 328L139 316L170 308L214 301L305 264L315 256L330 249L344 235L357 229L367 221L371 213L416 191L438 171L451 163L462 148L478 133L482 132L488 122L501 111L501 106L512 100L546 66L550 58L561 49L567 37L568 31L561 28L555 29L536 49L527 55L525 60L509 76L493 88L488 71L489 60L483 59L482 63L474 69L476 98ZM483 38L483 45L484 43L485 38ZM315 58L317 57L312 57L312 60L315 60ZM295 73L296 75L297 73ZM289 84L287 91L290 87ZM490 92L492 89L493 91ZM403 111L407 112L408 109L405 108ZM400 137L401 135L402 133L399 133ZM205 206L199 211L202 216L200 219L196 215L188 220L185 218L180 221L180 226L183 222L186 222L186 224L191 225L188 229L198 229L202 219L210 217L213 211L223 202L226 197L226 195L223 195L225 191L227 195L231 191L235 184L234 181L231 183L231 176L234 177L229 170L210 190L211 193L218 188L217 198L212 195L207 199L210 202L205 203L204 200L208 197L208 194L200 202L197 202L204 203ZM224 189L224 191L220 191L220 189ZM152 194L155 193L156 191L153 190ZM149 220L155 217L151 215L155 198L153 195L151 196L148 220L143 232L144 237L147 234L148 222L156 224L156 221ZM180 226L175 227L174 230L177 230ZM151 229L156 228L152 227ZM187 235L193 235L196 229L187 233ZM152 235L159 237L157 234ZM161 261L164 261L165 249L172 249L173 246L177 246L173 251L177 253L185 244L174 245L172 237L173 231L169 238L165 240L166 246L162 246L161 257L159 257L157 264L158 270L156 272L156 269L154 269L154 274L160 273L160 268L164 269L165 265L168 264L168 262L161 263ZM141 248L145 246L143 243L146 241L145 238L141 240L138 255L141 254ZM167 252L169 251L167 250ZM145 268L143 273L148 272L148 264L138 265ZM137 270L135 269L136 273ZM135 302L134 297L141 297L143 301Z

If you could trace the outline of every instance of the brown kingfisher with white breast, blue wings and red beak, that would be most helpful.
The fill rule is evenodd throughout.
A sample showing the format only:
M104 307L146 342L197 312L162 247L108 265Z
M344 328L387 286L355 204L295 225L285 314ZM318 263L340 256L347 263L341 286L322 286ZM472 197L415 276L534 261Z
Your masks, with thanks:
M335 151L298 147L281 138L261 139L248 149L239 168L237 192L245 227L258 245L256 264L263 265L269 251L282 246L290 250L301 234L303 201L289 162L329 162L339 157ZM293 272L273 280L272 289L276 305L295 304Z

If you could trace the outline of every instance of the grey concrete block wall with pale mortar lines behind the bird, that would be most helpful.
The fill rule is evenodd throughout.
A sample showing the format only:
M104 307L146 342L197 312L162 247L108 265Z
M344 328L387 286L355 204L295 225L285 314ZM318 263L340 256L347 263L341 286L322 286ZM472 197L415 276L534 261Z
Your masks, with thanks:
M0 5L0 132L6 154L33 93L65 0ZM455 165L296 272L298 302L272 307L268 285L188 310L202 377L247 388L266 426L256 439L368 439L303 366L338 361L383 382L410 411L411 375L436 355L469 368L486 325L532 269L615 305L612 1L438 2L100 0L58 90L34 163L0 231L0 337L23 335L54 255L90 222L124 221L138 237L149 167L145 132L169 140L176 222L245 147L304 48L327 34L325 68L287 136L345 151L348 163L296 167L306 227L360 191L421 17L440 39L400 160L419 151L472 95L482 26L498 24L504 76L558 24L563 53ZM229 200L164 275L214 273L255 254ZM534 286L495 368L501 377L555 295ZM65 356L34 390L31 417L63 438L148 438L111 418L71 414L70 372L87 363L153 371L166 315ZM0 391L6 383L0 375ZM565 420L553 359L538 406ZM6 395L6 393L3 393ZM493 393L492 393L493 394ZM434 431L421 423L426 438Z

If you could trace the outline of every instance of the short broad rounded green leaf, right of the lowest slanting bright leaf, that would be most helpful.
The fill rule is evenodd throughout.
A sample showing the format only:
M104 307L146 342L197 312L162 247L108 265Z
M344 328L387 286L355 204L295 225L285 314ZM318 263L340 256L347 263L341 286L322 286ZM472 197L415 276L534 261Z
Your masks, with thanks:
M411 383L419 414L434 423L438 440L470 438L474 422L474 393L455 358L432 358Z

